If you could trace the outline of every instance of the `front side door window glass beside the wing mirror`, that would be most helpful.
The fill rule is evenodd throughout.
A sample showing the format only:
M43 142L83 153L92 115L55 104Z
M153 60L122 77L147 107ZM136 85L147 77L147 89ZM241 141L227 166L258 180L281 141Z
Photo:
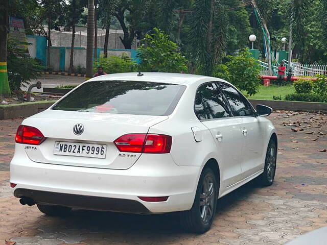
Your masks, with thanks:
M253 114L249 103L235 88L225 83L221 83L220 86L230 104L231 109L235 113L235 116L249 116Z

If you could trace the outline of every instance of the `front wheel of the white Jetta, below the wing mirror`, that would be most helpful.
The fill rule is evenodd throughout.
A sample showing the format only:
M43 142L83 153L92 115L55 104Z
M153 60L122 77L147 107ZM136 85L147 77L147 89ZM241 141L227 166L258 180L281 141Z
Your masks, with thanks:
M275 141L270 139L266 159L264 173L257 178L257 183L261 186L270 186L274 182L276 172L277 146Z

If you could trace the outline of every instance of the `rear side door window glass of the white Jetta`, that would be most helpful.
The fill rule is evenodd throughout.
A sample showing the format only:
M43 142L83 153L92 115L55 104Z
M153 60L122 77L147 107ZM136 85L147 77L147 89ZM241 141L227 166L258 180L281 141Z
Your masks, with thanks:
M199 87L196 93L194 111L200 120L229 116L220 89L215 83L207 83Z

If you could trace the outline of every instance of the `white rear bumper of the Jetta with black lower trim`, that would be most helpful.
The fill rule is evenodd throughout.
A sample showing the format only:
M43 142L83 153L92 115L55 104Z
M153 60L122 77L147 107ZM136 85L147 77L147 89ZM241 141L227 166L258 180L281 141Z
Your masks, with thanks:
M36 203L131 213L191 209L201 167L177 166L170 154L160 155L158 161L156 154L143 154L129 169L117 170L37 163L15 153L10 182L17 184L16 197ZM145 202L138 197L169 198Z

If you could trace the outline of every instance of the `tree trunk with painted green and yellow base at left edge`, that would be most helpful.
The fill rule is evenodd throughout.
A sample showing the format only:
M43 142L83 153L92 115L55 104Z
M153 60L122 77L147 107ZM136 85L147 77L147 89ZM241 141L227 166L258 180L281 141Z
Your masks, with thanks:
M0 22L0 96L10 95L7 71L7 37L9 30L9 1L4 1L4 8L0 9L0 16L3 18Z

